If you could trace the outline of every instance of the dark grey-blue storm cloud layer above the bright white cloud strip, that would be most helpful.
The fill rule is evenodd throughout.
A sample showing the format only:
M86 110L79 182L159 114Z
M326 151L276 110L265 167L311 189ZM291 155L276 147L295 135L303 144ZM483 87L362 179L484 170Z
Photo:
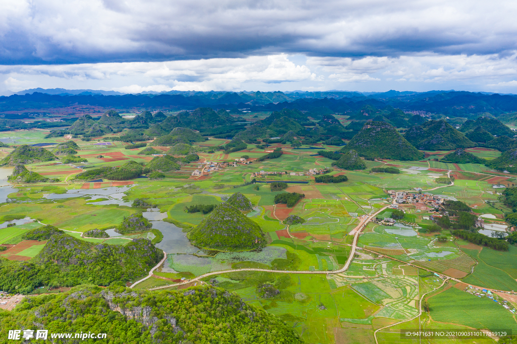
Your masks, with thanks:
M3 1L0 64L507 54L513 1Z

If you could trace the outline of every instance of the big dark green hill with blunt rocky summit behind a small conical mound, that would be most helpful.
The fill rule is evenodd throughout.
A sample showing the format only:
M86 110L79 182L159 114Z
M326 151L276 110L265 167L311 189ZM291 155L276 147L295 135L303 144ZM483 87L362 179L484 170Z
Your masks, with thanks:
M359 155L371 158L420 160L424 156L390 124L376 121L365 123L341 151L352 149Z

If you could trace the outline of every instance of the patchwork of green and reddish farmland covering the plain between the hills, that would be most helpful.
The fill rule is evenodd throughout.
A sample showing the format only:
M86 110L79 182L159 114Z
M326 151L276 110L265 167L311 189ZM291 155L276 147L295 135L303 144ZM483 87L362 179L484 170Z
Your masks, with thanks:
M0 137L6 135L0 133ZM23 132L17 137L20 142L22 139L27 143L48 142L43 140L44 135L39 132ZM64 140L55 138L51 141L57 143ZM125 149L127 143L104 142L102 138L92 142L74 140L80 147L77 155L84 157L87 162L72 165L51 162L31 164L29 167L33 171L59 178L59 181L14 185L12 192L6 195L9 201L1 205L1 221L7 225L21 221L14 219L28 217L28 220L24 224L1 228L0 244L8 247L22 244L20 248L23 245L27 247L14 255L7 253L2 256L13 260L30 260L37 256L45 244L37 241L30 245L24 244L26 241L23 235L47 224L69 231L67 233L75 239L96 244L121 247L131 242L128 239L148 238L154 240L156 247L166 252L168 258L155 270L153 277L138 284L136 289L165 286L173 283L172 280L241 268L336 271L348 259L353 240L350 233L360 223L361 216L372 214L390 204L388 190L409 191L418 187L424 192L461 200L473 207L477 214L498 216L491 220L485 218L486 222L502 222L508 208L500 202L492 185L510 185L514 178L510 175L502 179L496 175L491 176L480 165L456 165L429 160L449 153L437 151L428 152L432 153L426 158L428 160L418 162L366 161L369 168L397 166L401 170L400 174L372 173L369 168L354 171L334 168L330 175L345 175L348 180L336 184L315 183L313 176L299 174L322 166L331 167L332 160L315 156L320 147L294 150L287 144L274 144L268 149L282 147L284 154L277 159L256 162L253 159L266 154L266 149L248 144L245 151L229 154L222 150L211 152L210 148L217 148L229 140L210 138L198 147L199 161L181 165L176 171L168 171L165 178L158 181L149 178L78 181L74 176L90 168L117 167L128 161L147 164L153 157L139 155L143 147ZM167 147L154 148L163 152L168 150ZM326 145L322 145L323 148L337 149ZM498 156L493 150L469 151L486 159ZM9 149L0 152L0 158L8 152ZM251 164L237 164L210 171L203 176L191 176L192 171L202 168L201 163L205 161L227 162L245 154L249 156ZM99 155L103 158L99 158ZM455 171L454 185L429 190L442 186L436 183L436 179L445 177L449 169ZM257 181L306 183L288 183L285 190L271 191L268 183L250 183L252 174L261 170L286 171L287 174L257 176ZM291 175L291 172L298 175ZM193 246L186 233L206 220L210 212L189 213L186 208L218 205L235 192L242 193L251 201L253 209L244 214L261 227L267 246L256 251L233 253L208 252ZM285 192L301 193L305 197L293 207L275 204L275 196ZM152 205L153 210L132 206L137 198ZM358 237L358 247L364 250L356 251L356 256L345 272L327 276L241 271L213 275L203 278L199 283L235 292L242 300L279 316L308 343L334 344L344 342L342 340L354 342L358 338L361 342L374 342L373 332L376 329L417 316L419 298L434 289L436 291L429 297L430 313L424 312L420 318L400 326L418 328L420 319L421 325L432 324L436 328L445 326L443 323L447 323L449 328L492 328L495 326L493 319L500 317L503 325L517 330L510 312L501 305L481 300L453 287L444 291L445 288L440 287L442 279L417 268L458 278L466 284L517 290L517 270L514 264L517 248L511 246L508 252L486 247L476 249L469 246L468 242L454 241L448 230L440 233L425 231L433 223L424 218L432 213L432 209L417 208L414 205L401 205L399 209L404 211L404 216L396 225L370 222L364 227ZM150 221L154 232L148 229L120 236L112 231L125 218L140 213ZM393 209L386 209L378 217L391 217L392 214ZM286 225L283 221L289 215L300 216L305 222ZM82 233L92 229L108 230L110 236L115 237L96 239L82 236ZM158 232L163 237L161 240L160 236L157 237ZM447 241L438 241L440 235L445 236ZM261 288L265 284L272 285L278 293L264 298ZM450 302L451 299L455 300L454 303ZM461 311L450 311L451 308ZM476 309L484 309L485 312L481 316L476 314ZM390 336L400 326L379 332L379 342L398 342L398 339Z

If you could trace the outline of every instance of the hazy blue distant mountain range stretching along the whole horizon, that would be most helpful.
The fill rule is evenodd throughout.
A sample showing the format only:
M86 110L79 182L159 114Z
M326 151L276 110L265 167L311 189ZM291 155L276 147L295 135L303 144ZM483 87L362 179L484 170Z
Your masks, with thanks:
M388 91L360 93L325 92L197 92L170 91L160 94L123 95L115 91L31 89L0 97L0 112L26 112L69 106L103 108L154 108L177 111L212 107L215 110L239 108L245 111L281 111L283 108L313 111L326 108L330 113L353 115L364 106L383 110L400 108L417 114L442 114L450 117L472 117L477 114L498 116L517 111L517 96L466 91ZM359 117L361 114L358 114ZM358 118L356 118L358 119ZM364 118L365 120L372 118Z

